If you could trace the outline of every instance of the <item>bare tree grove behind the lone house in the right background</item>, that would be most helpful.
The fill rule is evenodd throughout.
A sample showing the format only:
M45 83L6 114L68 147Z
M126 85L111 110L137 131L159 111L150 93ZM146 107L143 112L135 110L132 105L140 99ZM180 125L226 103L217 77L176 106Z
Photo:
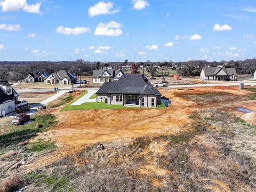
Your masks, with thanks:
M246 59L244 61L220 61L220 62L208 62L202 60L194 60L187 62L176 63L177 73L182 76L198 76L201 70L205 66L217 67L230 67L235 68L237 74L249 74L252 75L256 70L256 59Z

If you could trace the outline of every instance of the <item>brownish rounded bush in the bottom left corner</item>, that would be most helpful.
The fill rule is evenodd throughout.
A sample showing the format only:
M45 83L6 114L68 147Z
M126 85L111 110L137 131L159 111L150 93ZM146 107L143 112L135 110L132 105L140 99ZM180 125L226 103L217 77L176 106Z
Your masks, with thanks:
M1 192L12 192L19 190L25 181L21 179L18 175L13 175L5 179L0 188Z

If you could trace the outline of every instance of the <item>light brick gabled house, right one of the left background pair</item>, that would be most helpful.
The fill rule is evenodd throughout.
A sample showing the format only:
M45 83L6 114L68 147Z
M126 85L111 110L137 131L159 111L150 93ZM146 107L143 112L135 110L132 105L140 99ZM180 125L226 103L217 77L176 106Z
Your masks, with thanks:
M77 80L76 76L69 73L66 70L59 70L51 75L49 75L45 79L46 84L59 84L59 85L66 85L66 84L73 84Z

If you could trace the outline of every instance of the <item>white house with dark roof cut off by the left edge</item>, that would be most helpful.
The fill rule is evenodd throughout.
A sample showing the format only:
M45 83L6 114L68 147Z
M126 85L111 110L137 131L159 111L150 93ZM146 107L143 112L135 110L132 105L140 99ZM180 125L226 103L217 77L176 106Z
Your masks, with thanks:
M3 113L9 114L15 111L18 97L19 94L12 88L12 84L0 81L0 116L3 116Z

